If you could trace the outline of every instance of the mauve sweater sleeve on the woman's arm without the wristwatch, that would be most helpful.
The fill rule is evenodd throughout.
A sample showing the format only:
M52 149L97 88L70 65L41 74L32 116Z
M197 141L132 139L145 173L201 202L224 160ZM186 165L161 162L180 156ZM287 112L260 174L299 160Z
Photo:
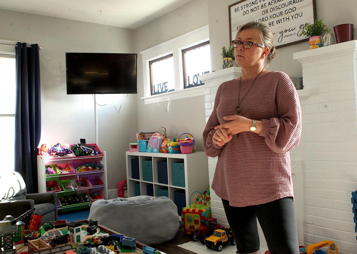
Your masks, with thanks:
M203 148L205 149L205 154L210 157L216 157L221 153L223 146L218 146L212 141L213 134L215 134L215 127L220 125L217 117L217 106L220 103L220 96L222 91L222 85L217 89L215 105L213 106L213 111L208 118L205 130L203 130Z

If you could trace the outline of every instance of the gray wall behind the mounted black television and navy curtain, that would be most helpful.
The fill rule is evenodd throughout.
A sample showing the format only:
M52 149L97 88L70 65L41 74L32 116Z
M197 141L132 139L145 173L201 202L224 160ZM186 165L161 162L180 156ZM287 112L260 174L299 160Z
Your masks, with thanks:
M94 100L66 94L66 52L134 53L134 31L114 26L0 10L0 39L38 43L40 51L42 143L95 143ZM126 95L100 95L99 104L118 109ZM137 95L120 113L98 106L99 147L107 151L108 189L126 178L125 151L137 129ZM82 107L83 99L83 107Z

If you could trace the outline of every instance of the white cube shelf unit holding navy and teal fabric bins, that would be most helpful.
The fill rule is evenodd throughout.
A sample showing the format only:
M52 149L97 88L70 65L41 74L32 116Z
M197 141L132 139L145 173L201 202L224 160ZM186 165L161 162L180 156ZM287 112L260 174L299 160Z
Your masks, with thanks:
M139 159L139 179L133 178L132 176L132 165L131 165L132 159ZM151 180L147 181L148 165L146 160L152 161L152 169L151 169L152 181ZM168 176L168 184L159 183L158 163L157 163L158 161L167 162L166 174ZM177 163L177 162L183 162L182 170L184 171L179 173L182 174L182 177L184 177L183 184L180 183L181 186L174 185L172 163ZM145 165L145 169L143 167L143 163ZM162 168L160 168L160 172L163 173ZM177 200L175 200L175 191L178 191L185 196L185 203L186 205L189 205L190 195L193 191L200 191L202 193L203 191L207 190L209 184L208 160L205 152L201 152L201 151L196 151L195 153L191 153L191 154L166 154L166 153L145 153L145 152L126 151L126 176L127 176L127 190L128 190L129 197L137 196L137 195L148 195L147 185L152 185L154 196L162 196L165 195L165 192L166 193L168 192L167 193L168 198L170 198L176 204ZM161 176L162 175L160 175L160 178ZM137 176L135 175L135 177ZM146 180L144 180L144 178ZM193 200L191 200L191 204L192 202Z

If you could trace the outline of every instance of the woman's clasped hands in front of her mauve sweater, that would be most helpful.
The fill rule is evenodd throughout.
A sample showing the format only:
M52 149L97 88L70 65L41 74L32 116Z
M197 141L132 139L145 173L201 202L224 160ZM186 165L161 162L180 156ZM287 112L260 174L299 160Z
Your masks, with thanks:
M215 127L215 134L212 136L212 141L218 146L223 146L231 141L232 135L248 131L252 125L252 120L241 115L224 116L223 120L230 121L225 124L220 124Z

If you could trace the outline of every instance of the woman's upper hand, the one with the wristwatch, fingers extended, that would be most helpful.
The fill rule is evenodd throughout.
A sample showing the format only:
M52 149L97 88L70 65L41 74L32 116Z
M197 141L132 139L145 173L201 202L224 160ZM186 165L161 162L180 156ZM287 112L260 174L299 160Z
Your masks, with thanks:
M249 131L252 125L252 120L241 115L224 116L223 120L230 121L229 123L220 124L215 129L225 128L229 135L235 135L243 131Z

